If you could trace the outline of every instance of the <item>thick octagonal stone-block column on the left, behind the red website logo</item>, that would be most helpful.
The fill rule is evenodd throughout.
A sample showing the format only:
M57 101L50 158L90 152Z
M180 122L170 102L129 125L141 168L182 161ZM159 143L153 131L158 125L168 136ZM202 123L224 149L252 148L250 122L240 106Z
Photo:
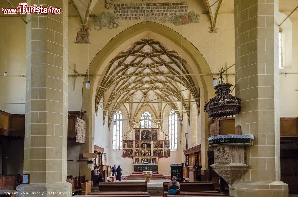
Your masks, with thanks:
M72 196L72 185L66 182L68 1L27 2L57 6L62 13L27 16L24 173L30 174L30 184L19 185L18 196Z

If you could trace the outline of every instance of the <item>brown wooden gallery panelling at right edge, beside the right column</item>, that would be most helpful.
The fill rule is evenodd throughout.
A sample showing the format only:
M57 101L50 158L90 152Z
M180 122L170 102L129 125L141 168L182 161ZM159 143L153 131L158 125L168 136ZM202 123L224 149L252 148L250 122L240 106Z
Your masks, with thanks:
M298 137L297 117L280 117L280 137Z

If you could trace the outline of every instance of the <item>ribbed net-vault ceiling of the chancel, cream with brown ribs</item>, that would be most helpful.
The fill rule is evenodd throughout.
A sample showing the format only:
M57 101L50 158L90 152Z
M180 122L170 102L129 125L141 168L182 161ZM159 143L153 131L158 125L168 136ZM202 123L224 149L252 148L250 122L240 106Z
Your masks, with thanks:
M199 108L200 91L187 71L187 62L159 41L145 38L121 51L108 64L96 94L96 113L103 103L110 126L113 114L124 108L129 120L139 118L141 110L162 119L168 107L190 117L190 99ZM109 113L108 113L109 112Z

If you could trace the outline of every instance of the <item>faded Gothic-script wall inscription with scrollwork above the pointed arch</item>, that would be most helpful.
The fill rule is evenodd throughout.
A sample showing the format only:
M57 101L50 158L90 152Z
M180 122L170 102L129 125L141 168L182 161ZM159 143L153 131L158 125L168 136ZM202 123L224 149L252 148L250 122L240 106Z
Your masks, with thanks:
M139 0L138 3L127 3L121 0L103 0L104 9L93 17L94 29L103 27L116 29L121 26L120 21L142 20L158 23L172 23L176 26L198 23L200 15L188 10L186 1L160 2L161 0Z

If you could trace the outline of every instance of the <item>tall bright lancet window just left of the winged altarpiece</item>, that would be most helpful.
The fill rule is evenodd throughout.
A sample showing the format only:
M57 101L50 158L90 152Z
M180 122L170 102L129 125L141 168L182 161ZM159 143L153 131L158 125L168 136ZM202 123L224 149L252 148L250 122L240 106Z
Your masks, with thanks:
M122 112L114 114L113 149L122 149Z

